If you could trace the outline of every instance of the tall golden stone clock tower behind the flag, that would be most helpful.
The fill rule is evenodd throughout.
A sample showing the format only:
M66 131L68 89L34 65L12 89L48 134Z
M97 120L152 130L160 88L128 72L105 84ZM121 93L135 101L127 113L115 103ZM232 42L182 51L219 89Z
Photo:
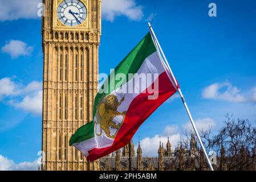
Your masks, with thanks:
M43 0L42 170L97 170L68 145L92 121L97 93L101 0Z

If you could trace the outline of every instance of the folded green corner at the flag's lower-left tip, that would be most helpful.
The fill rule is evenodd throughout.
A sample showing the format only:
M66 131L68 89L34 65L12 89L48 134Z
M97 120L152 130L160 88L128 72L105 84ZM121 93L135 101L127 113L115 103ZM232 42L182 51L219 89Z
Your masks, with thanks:
M73 143L83 142L90 138L94 138L94 122L87 123L80 127L70 138L70 146L72 146Z

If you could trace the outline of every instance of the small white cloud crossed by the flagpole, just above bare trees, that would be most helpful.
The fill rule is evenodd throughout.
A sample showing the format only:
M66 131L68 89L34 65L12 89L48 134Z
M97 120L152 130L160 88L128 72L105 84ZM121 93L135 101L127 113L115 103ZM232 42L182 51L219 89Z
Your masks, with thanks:
M206 131L208 130L210 127L214 127L216 122L214 121L214 119L212 118L203 118L203 119L197 119L194 120L194 123L197 127L198 131ZM184 125L182 125L182 127L185 129L185 131L187 131L188 133L190 133L193 130L192 124L190 121L188 121L187 123L185 123Z

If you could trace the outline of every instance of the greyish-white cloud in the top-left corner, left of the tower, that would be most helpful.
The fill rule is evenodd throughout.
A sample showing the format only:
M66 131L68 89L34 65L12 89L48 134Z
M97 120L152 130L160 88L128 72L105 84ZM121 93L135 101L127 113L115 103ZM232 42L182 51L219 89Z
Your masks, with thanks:
M38 3L42 0L8 0L0 1L0 22L17 19L36 19Z

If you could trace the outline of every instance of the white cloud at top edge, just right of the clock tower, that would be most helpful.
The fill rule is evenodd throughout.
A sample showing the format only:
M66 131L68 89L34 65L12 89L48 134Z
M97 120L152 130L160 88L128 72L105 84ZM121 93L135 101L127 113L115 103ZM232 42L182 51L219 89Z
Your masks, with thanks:
M103 18L110 22L122 15L131 20L143 18L143 7L137 6L135 0L104 0L101 3Z

